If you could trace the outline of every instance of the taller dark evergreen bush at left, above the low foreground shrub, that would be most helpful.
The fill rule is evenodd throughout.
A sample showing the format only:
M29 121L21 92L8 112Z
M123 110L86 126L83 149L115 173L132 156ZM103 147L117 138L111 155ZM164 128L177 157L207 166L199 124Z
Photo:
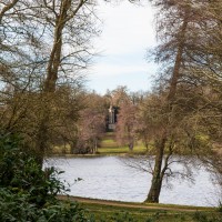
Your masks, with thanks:
M36 157L21 149L20 143L16 135L0 137L0 188L8 188L13 193L27 193L30 202L41 206L65 191L63 183L58 180L62 172L54 168L43 171Z

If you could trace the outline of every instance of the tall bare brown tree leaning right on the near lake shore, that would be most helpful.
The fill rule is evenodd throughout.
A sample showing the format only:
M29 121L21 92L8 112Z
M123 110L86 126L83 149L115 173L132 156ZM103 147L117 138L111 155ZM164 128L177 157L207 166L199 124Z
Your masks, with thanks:
M148 99L147 113L143 114L150 128L151 153L155 157L145 201L159 202L162 181L169 174L173 154L186 153L201 143L196 135L201 134L201 128L196 128L195 122L200 118L196 113L203 101L200 97L203 88L190 72L190 64L193 63L192 56L200 52L201 22L208 21L201 17L199 1L154 0L152 3L159 9L157 36L160 44L154 59L163 64L163 69L160 84Z

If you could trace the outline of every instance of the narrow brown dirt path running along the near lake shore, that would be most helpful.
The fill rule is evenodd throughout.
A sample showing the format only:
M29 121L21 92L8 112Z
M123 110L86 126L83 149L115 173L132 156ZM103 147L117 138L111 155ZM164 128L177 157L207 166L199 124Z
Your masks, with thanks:
M164 210L164 211L180 211L180 212L195 212L195 211L213 211L214 208L200 208L200 206L181 206L172 205L172 206L163 206L163 205L145 205L143 203L127 203L127 202L118 202L118 201L107 201L107 200L98 200L98 199L88 199L88 198L77 198L77 196L64 196L59 195L59 200L71 200L78 201L80 203L93 203L93 204L102 204L110 206L122 206L122 208L131 208L131 209L152 209L152 210Z

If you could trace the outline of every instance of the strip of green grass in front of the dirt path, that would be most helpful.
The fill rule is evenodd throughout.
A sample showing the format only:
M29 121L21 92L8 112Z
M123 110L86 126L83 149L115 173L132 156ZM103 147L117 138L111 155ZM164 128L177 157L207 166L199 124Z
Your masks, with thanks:
M93 214L98 222L215 222L216 219L222 218L222 214L216 211L178 211L176 205L175 209L171 210L154 210L92 203L81 204L89 214Z

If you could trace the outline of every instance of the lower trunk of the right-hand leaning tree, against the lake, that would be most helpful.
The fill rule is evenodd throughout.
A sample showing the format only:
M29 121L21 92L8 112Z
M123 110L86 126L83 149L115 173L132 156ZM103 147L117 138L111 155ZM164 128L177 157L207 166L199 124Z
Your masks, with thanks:
M165 137L163 137L161 140L155 141L155 145L157 145L155 165L154 165L151 188L150 188L148 198L145 199L144 202L159 203L159 196L160 196L162 179L163 179L161 168L162 168L162 160L164 155L165 141L167 141Z

